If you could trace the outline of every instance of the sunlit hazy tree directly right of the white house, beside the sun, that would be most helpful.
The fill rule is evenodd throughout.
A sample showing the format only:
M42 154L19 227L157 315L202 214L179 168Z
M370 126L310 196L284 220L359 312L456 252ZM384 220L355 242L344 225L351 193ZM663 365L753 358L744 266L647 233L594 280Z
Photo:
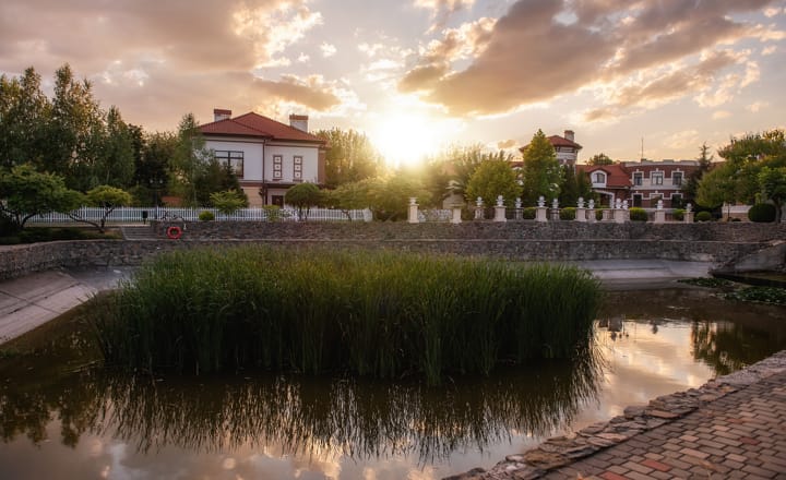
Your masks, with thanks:
M380 173L382 156L365 133L355 130L319 130L314 135L327 142L325 185L373 178Z

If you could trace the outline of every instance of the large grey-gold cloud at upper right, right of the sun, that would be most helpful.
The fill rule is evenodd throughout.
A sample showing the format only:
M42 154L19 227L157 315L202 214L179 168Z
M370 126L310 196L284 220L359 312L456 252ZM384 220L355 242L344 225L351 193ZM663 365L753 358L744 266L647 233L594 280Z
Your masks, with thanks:
M733 14L761 11L767 3L520 0L487 32L483 49L468 65L451 57L455 41L445 35L420 52L398 86L420 92L425 100L451 113L477 116L512 111L582 88L602 92L628 85L614 105L586 116L609 118L620 113L620 107L648 108L653 101L699 95L724 69L745 70L735 73L741 85L755 82L758 65L747 64L745 56L718 53L708 60L703 52L722 46L733 50L745 38L769 41L784 35L773 25L731 20ZM436 55L440 49L446 53ZM677 64L686 73L669 68ZM650 76L654 72L659 76ZM713 79L691 79L690 72L711 73ZM630 85L633 81L643 84ZM645 100L633 100L642 95ZM706 94L702 98L707 105L720 101L711 101Z

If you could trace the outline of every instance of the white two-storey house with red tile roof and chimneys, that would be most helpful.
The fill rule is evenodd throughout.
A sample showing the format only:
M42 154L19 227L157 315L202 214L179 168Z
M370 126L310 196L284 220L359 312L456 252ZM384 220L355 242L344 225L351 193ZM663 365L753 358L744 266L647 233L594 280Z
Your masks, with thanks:
M326 142L308 133L308 116L290 115L287 125L254 112L213 115L200 127L205 147L235 168L251 206L283 206L290 187L323 183Z

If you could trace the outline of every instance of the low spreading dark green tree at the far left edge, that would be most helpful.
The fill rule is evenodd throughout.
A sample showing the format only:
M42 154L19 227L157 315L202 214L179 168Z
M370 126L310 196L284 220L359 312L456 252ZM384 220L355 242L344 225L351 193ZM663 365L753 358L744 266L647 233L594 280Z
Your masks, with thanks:
M22 230L36 215L70 212L81 203L82 195L67 189L60 176L41 173L29 164L0 170L0 214L15 230Z

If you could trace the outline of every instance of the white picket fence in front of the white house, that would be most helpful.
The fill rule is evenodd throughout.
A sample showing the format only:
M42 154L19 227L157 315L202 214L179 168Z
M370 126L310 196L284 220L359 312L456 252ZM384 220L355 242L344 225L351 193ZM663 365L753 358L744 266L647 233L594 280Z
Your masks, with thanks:
M212 212L218 221L269 221L270 213L264 208L240 208L233 215L225 215L215 208L175 208L175 207L119 207L114 209L107 217L109 224L143 224L145 221L162 218L182 218L186 221L198 221L202 212ZM104 216L103 208L83 206L71 213L73 216L90 220L100 221ZM354 209L348 212L353 221L371 221L372 215L369 209ZM277 211L277 220L298 221L297 211L294 208L281 208ZM347 221L347 214L344 211L332 208L311 208L308 213L308 221ZM72 224L75 220L67 214L49 213L36 215L28 220L34 224Z

